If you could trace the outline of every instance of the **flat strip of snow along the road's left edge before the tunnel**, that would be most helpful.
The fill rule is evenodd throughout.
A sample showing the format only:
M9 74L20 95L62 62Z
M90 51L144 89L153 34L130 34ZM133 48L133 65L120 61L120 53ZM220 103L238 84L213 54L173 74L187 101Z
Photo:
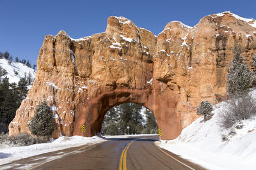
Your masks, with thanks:
M93 136L92 138L82 138L83 137L81 136L63 136L58 139L54 139L49 143L16 147L6 146L5 148L0 148L0 165L12 162L13 160L40 155L42 153L54 152L56 150L63 150L66 148L77 147L85 144L94 144L106 141L105 139L99 138L97 136Z

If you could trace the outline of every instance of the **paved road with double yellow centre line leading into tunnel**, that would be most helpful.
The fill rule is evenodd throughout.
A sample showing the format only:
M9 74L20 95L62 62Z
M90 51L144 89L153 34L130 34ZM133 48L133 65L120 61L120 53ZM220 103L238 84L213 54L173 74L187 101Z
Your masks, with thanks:
M158 136L118 139L17 160L0 169L204 169L154 145Z

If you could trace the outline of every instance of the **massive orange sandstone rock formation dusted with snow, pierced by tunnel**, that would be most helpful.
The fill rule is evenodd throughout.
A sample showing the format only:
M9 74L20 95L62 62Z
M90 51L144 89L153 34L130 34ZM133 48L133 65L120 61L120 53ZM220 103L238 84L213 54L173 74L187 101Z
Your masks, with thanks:
M197 118L200 101L226 98L226 66L235 41L250 63L256 53L256 22L230 12L209 15L194 27L170 22L158 36L124 17L109 17L105 32L72 39L45 36L35 82L22 101L10 135L29 132L28 122L44 98L58 138L100 132L104 114L122 103L151 110L162 139L174 139Z

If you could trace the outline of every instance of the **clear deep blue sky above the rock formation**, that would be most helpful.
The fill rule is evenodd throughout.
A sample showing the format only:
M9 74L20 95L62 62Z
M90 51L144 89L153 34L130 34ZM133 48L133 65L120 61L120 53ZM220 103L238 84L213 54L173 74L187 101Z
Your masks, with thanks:
M232 11L256 18L256 1L54 1L0 0L0 51L36 64L44 36L64 30L72 38L104 32L109 16L129 18L159 34L179 20L193 26L205 15Z

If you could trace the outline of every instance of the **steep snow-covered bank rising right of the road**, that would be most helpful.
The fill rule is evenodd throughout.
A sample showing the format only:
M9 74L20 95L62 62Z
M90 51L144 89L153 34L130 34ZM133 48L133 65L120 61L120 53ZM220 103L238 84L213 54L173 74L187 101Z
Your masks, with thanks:
M252 92L256 101L256 90ZM191 160L207 169L255 169L256 167L256 117L243 120L242 129L232 129L234 136L222 141L229 131L221 131L218 119L226 103L214 106L214 115L204 122L200 117L182 130L174 140L156 142L156 145L170 150L181 157ZM171 130L171 129L170 129Z

